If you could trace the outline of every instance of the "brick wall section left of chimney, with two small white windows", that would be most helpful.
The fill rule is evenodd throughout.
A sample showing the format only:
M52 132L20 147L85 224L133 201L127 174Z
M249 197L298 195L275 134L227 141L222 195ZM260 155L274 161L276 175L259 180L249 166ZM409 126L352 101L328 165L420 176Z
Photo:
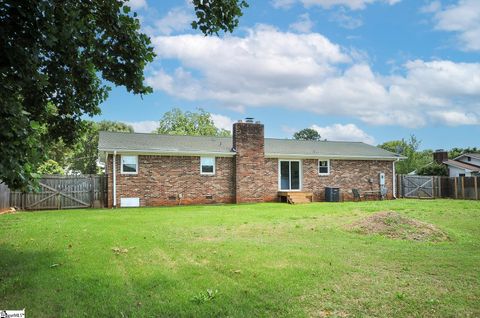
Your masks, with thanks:
M138 174L120 174L117 155L117 206L120 198L140 198L141 206L233 203L233 158L217 157L214 176L200 174L200 157L138 156ZM108 157L108 202L113 205L112 158ZM182 194L182 198L179 198ZM211 195L211 198L207 198Z

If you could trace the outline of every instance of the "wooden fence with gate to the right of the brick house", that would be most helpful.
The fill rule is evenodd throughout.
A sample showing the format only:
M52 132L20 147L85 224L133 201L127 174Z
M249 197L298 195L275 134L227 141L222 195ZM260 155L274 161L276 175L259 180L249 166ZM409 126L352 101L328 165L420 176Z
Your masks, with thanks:
M397 197L480 200L480 177L398 175Z

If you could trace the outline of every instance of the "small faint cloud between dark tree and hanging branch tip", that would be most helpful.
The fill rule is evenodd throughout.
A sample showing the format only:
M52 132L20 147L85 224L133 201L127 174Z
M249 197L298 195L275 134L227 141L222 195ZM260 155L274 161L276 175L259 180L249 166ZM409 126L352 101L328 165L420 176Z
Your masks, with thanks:
M161 19L155 21L153 32L156 34L172 34L189 29L194 20L193 13L187 7L173 8ZM158 33L157 33L158 32Z

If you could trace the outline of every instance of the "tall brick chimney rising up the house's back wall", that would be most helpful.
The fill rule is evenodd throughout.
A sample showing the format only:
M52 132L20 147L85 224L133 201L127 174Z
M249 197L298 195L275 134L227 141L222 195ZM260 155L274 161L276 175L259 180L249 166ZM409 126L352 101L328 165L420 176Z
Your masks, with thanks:
M263 202L265 138L263 125L247 118L233 124L236 203Z

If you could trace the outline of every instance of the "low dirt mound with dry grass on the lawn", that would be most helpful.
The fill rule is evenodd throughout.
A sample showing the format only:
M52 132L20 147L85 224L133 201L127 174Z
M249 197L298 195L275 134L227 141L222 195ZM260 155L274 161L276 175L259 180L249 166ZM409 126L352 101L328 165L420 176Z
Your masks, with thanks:
M347 230L411 241L441 242L449 240L448 235L435 225L391 211L372 214L348 225Z

